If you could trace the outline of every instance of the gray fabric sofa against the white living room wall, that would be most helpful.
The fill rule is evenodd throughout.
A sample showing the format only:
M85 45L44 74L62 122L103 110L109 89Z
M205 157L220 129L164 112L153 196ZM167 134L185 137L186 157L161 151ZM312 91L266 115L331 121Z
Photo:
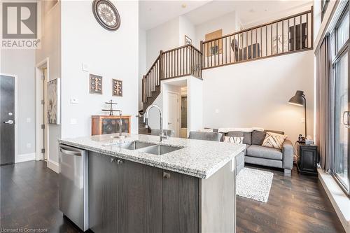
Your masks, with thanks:
M218 132L218 129L214 129ZM228 132L223 136L243 136L243 143L246 144L244 155L236 157L237 172L244 167L244 162L247 164L258 164L267 167L277 167L284 169L284 175L290 176L293 168L293 154L294 148L290 140L284 141L282 149L268 148L261 146L265 139L266 132L274 132L284 134L284 132L276 130L265 130L265 132ZM223 141L223 138L222 138Z

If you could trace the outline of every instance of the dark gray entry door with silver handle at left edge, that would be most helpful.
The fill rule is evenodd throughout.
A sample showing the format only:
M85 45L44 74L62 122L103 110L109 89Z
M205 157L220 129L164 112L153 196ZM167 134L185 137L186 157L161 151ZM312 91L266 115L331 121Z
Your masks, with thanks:
M0 165L15 162L15 77L0 75Z

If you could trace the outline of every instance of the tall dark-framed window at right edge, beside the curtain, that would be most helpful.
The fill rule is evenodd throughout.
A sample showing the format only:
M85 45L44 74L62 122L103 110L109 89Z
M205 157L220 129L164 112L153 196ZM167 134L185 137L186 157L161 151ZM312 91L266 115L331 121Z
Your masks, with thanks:
M349 93L349 7L346 7L330 34L332 73L334 78L334 166L332 175L349 195L350 93Z

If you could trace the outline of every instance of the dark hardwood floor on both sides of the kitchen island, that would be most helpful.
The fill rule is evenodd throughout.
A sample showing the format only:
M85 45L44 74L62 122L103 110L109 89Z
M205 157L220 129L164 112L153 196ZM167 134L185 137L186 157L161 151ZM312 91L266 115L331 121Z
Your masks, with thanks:
M269 171L274 180L267 203L237 197L237 232L344 232L318 178ZM1 230L79 232L58 209L57 180L43 161L0 167Z

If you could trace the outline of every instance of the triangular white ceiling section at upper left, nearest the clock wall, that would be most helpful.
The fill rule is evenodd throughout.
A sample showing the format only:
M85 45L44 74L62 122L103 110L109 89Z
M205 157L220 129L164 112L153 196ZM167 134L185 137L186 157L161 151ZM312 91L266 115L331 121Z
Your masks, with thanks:
M186 14L210 1L139 1L139 25L141 29L151 29L164 22Z

